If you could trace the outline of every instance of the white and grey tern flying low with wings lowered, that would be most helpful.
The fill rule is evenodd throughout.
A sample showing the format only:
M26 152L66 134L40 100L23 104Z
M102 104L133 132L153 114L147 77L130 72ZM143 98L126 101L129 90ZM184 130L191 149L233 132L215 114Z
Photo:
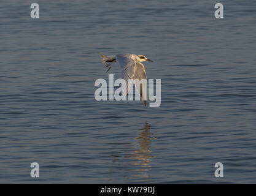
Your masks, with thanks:
M144 61L151 61L150 59L146 58L144 55L134 55L134 54L126 54L126 55L115 55L115 56L105 56L101 55L101 62L106 66L109 67L107 72L111 69L112 63L117 62L119 66L122 68L122 77L126 81L126 91L125 95L128 93L132 83L130 83L129 79L138 79L147 80L147 74L145 73L145 67L141 62ZM140 89L139 95L142 99L142 88L138 88L138 84L135 83L136 89ZM141 84L142 85L142 84ZM144 105L147 105L147 100L142 100Z

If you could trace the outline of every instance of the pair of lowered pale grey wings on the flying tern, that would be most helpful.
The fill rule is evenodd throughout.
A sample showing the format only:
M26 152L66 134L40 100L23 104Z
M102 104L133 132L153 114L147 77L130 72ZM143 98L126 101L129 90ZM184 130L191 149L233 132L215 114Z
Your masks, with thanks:
M133 85L133 81L135 84L135 88L139 92L141 99L143 98L142 92L147 92L147 88L142 91L142 88L145 88L144 85L141 85L138 80L145 79L147 80L147 74L145 73L145 68L143 64L140 62L135 62L132 58L132 55L116 55L115 59L117 63L122 67L122 76L123 79L126 81L126 89L125 94L129 92L131 85ZM133 79L133 81L129 80ZM138 80L135 80L138 79ZM144 96L145 97L145 96ZM144 105L147 104L147 100L143 100Z

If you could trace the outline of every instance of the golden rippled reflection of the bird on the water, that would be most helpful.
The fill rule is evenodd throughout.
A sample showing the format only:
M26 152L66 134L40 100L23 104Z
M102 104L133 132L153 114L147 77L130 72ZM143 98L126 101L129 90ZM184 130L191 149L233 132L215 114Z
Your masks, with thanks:
M145 180L149 178L148 172L151 167L152 160L152 147L151 140L156 139L150 132L150 124L144 123L142 129L139 129L138 137L136 140L136 149L131 153L130 159L133 159L130 164L134 167L134 172L131 174L132 178Z

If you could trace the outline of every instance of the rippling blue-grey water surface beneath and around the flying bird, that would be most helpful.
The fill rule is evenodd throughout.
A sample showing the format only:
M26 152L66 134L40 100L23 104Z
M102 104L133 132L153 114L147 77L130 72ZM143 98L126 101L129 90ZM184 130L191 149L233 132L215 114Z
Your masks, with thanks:
M255 1L219 20L215 1L37 0L39 19L15 2L0 6L0 183L256 183ZM152 59L161 106L97 102L98 52Z

